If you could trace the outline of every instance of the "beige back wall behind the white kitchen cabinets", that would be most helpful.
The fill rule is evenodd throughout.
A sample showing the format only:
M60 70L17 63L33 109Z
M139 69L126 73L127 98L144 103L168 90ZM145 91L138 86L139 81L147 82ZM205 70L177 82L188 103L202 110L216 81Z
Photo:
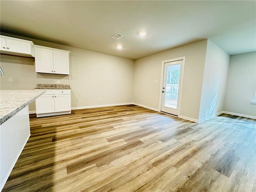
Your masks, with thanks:
M72 80L68 80L66 75L36 73L34 58L1 54L1 68L5 74L0 78L1 89L31 90L36 84L53 84L56 79L60 80L60 84L70 84L72 108L132 102L134 60L40 40L28 40L42 46L69 50ZM8 77L12 77L12 83L8 82ZM30 111L35 110L34 103L29 107Z

